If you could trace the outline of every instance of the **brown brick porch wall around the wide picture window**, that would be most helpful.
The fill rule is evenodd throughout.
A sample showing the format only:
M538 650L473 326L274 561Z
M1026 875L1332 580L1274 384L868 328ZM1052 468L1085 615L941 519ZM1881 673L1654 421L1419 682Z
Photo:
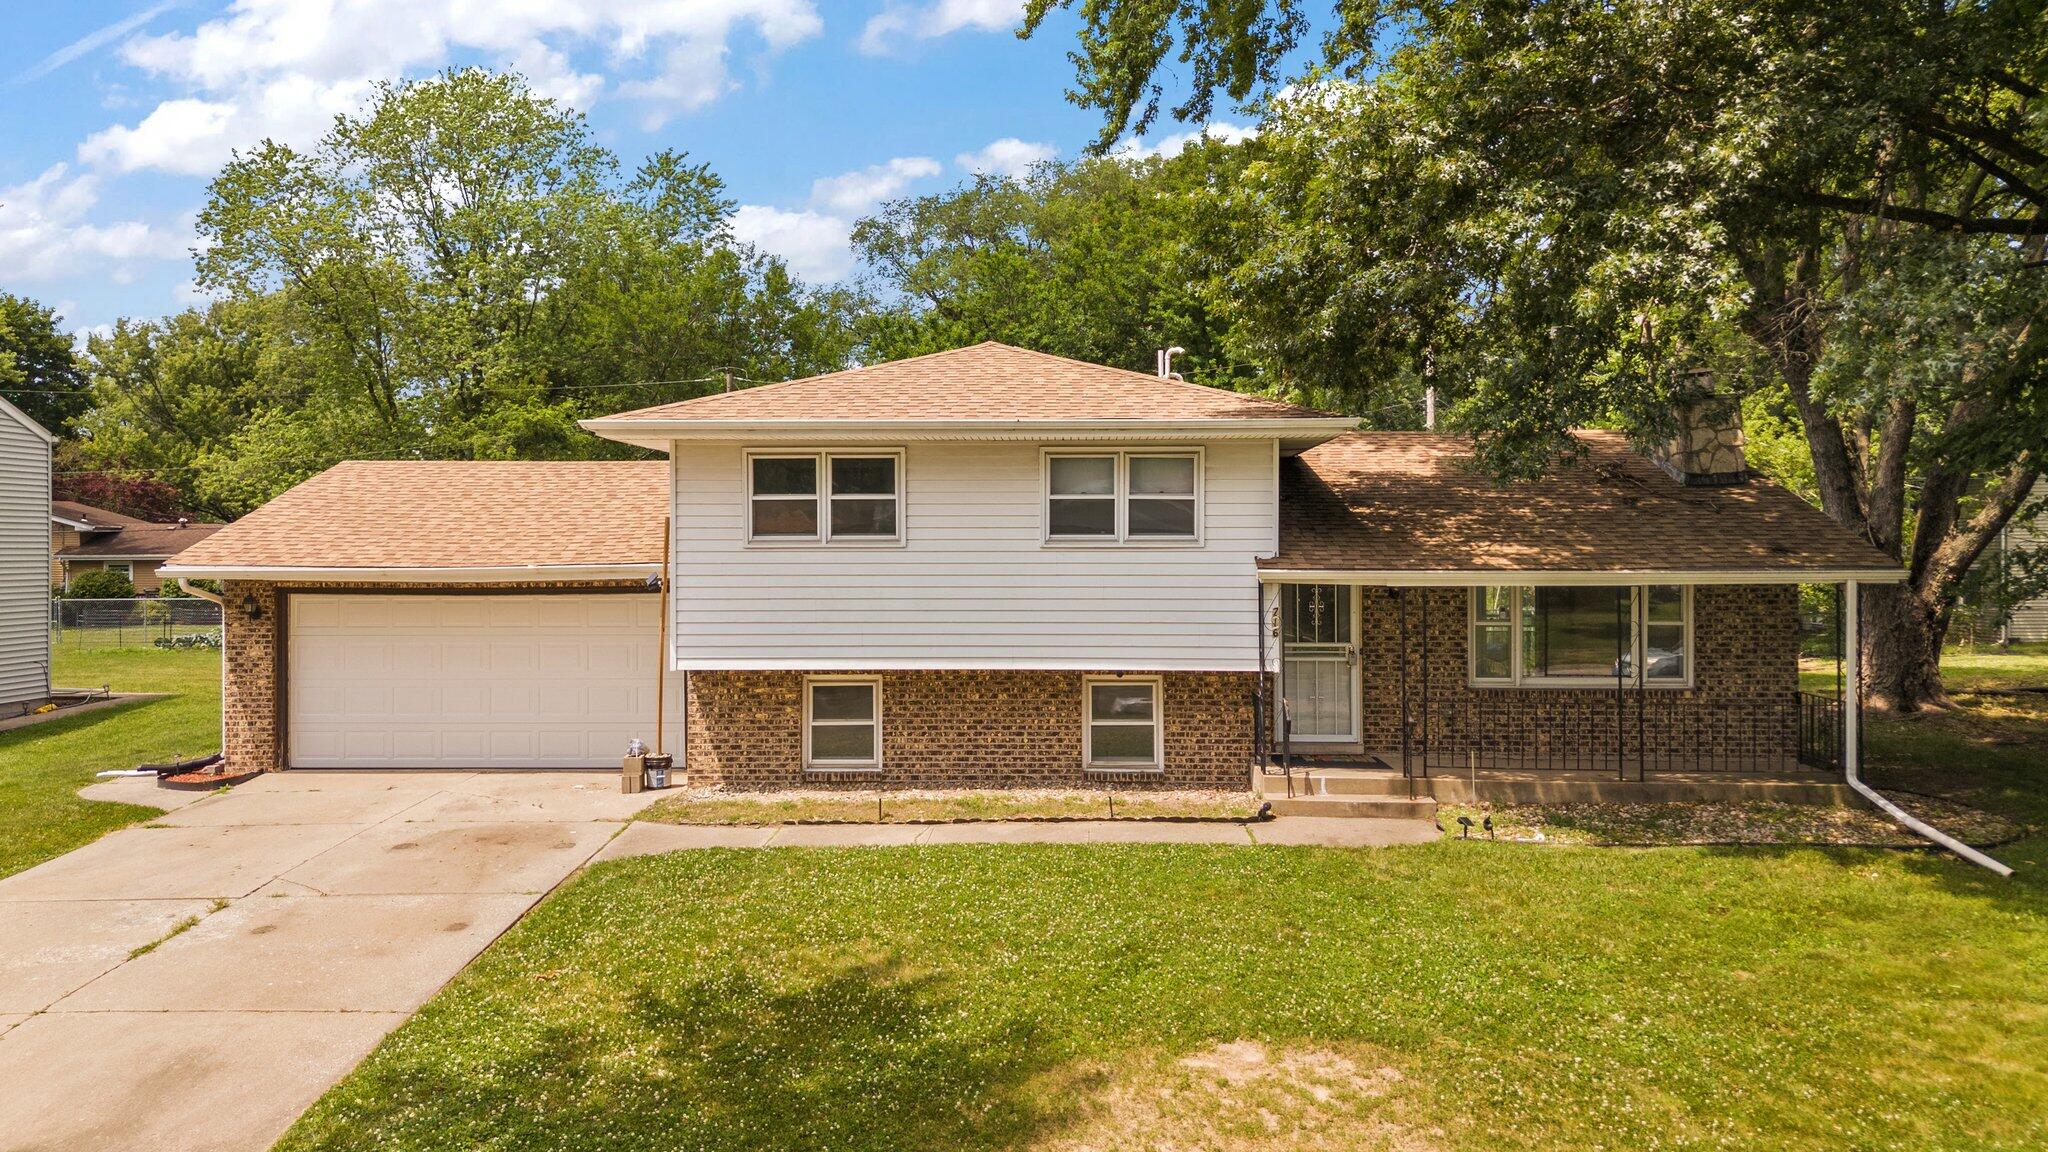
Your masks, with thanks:
M1364 742L1401 748L1401 625L1386 588L1364 588L1362 668ZM1430 603L1423 644L1423 596ZM1798 588L1792 584L1708 584L1694 588L1692 689L1624 695L1616 732L1614 689L1475 689L1466 683L1470 631L1466 588L1407 592L1407 693L1421 736L1421 668L1430 668L1432 763L1534 754L1550 758L1614 756L1620 740L1634 765L1647 746L1651 767L1790 767L1798 756ZM1483 760L1485 763L1485 760Z

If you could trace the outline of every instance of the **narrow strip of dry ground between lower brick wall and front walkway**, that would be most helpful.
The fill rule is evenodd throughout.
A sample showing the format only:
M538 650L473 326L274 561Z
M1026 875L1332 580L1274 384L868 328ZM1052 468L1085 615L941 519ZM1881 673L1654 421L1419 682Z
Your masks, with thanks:
M647 806L657 824L928 824L948 820L1249 820L1249 791L1108 789L903 789L719 791L684 789Z

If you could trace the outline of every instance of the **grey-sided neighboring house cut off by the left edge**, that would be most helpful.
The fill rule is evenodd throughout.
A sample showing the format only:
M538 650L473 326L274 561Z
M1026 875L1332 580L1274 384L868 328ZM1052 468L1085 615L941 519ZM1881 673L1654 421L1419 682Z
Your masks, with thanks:
M49 695L49 447L0 400L0 715Z

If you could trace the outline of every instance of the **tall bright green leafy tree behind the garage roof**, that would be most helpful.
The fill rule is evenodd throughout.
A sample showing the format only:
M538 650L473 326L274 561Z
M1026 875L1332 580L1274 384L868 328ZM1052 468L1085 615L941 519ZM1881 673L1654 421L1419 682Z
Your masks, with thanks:
M516 76L385 84L221 170L221 301L92 340L80 465L236 515L348 457L633 453L575 420L844 367L848 301L733 240L731 207L680 154L623 174Z

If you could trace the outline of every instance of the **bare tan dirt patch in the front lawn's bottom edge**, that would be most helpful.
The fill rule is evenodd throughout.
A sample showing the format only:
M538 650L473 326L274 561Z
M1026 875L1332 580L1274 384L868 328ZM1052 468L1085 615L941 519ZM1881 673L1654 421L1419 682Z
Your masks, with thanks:
M1368 1045L1237 1039L1180 1060L1087 1066L1073 1078L1085 1101L1077 1123L1032 1148L1423 1152L1444 1138L1403 1115L1405 1076Z

